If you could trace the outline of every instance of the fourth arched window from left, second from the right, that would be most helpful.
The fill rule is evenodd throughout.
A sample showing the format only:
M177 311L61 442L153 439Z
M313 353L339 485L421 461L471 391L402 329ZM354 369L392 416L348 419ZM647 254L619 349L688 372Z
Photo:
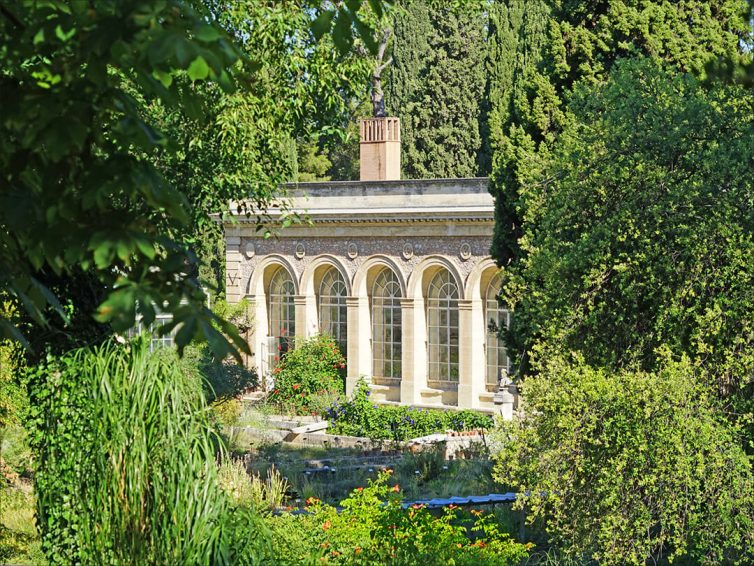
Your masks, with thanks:
M430 381L458 381L458 285L447 269L427 290L427 348Z

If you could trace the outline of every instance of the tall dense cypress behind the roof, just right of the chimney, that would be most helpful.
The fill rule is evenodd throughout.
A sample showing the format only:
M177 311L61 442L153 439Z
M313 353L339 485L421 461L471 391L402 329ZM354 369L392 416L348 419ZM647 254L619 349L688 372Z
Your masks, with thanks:
M394 21L389 114L401 118L406 178L479 173L486 13L409 2Z

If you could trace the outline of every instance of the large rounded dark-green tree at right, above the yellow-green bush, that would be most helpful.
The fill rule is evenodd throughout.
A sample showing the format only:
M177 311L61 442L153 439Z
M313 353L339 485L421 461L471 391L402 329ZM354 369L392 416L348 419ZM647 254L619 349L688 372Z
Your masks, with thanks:
M720 394L751 398L750 93L626 61L578 91L576 119L527 201L527 259L506 270L513 331L589 364L651 369L666 344ZM736 412L749 412L737 407Z

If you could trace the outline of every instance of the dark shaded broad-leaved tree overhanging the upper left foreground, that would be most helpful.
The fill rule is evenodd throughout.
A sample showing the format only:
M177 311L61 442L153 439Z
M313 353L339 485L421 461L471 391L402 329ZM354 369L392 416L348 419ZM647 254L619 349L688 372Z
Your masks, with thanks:
M374 44L361 4L322 7L303 1L296 13L315 15L310 25L316 35L332 30L337 51L344 53L354 28ZM383 2L369 5L382 13ZM191 225L189 199L156 164L178 150L142 104L160 101L197 118L202 106L196 90L202 82L230 94L232 66L239 61L246 63L243 82L264 77L269 54L246 57L208 23L221 13L210 10L202 18L179 0L157 5L105 0L96 8L31 0L3 5L0 289L35 325L47 324L49 309L66 315L40 273L61 276L82 269L108 290L97 318L115 330L130 327L137 312L151 322L159 307L173 313L179 346L207 339L219 354L247 349L232 326L205 305L192 267L195 254L182 241ZM260 5L246 25L263 27L268 15L274 22L274 13L274 7ZM275 108L278 100L268 94L260 105ZM231 107L234 102L228 99ZM255 117L227 115L236 125ZM275 139L268 140L270 147ZM229 139L239 147L244 141L248 130ZM261 153L266 155L264 149ZM252 186L251 202L263 208L271 190L262 182ZM0 332L28 345L11 321L0 320Z

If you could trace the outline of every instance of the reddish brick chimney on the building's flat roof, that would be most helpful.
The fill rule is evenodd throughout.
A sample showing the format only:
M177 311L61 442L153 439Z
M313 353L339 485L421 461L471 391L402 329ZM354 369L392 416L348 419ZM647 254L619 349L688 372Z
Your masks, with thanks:
M396 181L401 178L401 121L398 118L359 120L360 179Z

